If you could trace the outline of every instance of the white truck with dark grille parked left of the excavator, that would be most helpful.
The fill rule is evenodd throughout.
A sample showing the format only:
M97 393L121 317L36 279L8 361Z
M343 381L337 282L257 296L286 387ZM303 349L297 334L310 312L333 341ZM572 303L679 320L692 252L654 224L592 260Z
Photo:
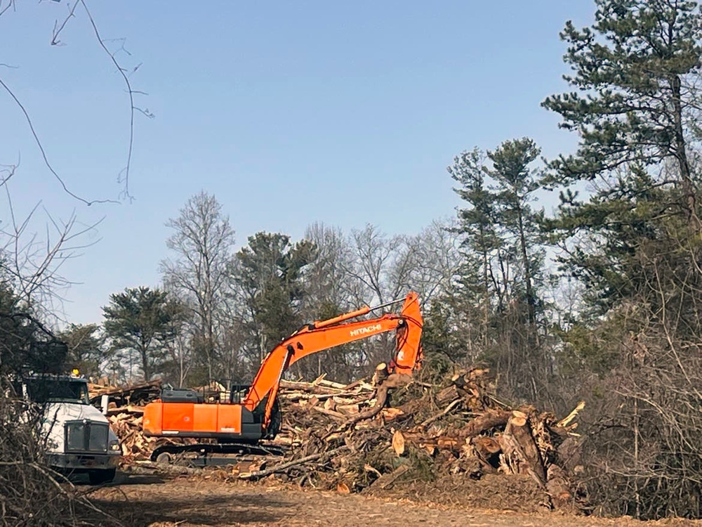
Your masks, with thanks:
M62 474L88 474L93 485L114 479L121 445L103 413L107 408L100 412L90 404L86 379L25 375L22 396L44 410L42 431L53 469Z

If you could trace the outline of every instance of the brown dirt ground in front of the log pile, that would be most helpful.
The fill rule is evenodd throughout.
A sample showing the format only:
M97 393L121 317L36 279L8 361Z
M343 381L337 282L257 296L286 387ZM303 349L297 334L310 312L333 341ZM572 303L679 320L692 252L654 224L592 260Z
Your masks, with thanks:
M495 511L392 497L298 490L281 484L120 474L91 497L129 526L696 526L702 521L600 519L557 512Z

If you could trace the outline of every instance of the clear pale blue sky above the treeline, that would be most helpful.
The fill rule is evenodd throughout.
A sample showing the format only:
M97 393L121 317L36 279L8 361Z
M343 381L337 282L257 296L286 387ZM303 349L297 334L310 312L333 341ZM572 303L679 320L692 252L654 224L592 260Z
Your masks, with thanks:
M85 207L44 167L22 114L0 92L0 164L21 159L15 214L39 200L75 209L95 239L62 273L77 323L124 287L158 285L168 229L188 197L214 193L239 245L258 230L300 238L314 221L416 233L454 214L446 166L477 145L531 136L552 156L574 145L541 100L566 88L568 19L591 0L94 1L105 39L131 74L137 115L131 204ZM18 1L0 17L3 79L25 104L51 163L75 193L117 198L128 98L81 8L50 46L60 2ZM113 49L119 43L108 43ZM0 202L6 225L7 204ZM552 203L546 203L551 207ZM44 218L37 219L44 228Z

